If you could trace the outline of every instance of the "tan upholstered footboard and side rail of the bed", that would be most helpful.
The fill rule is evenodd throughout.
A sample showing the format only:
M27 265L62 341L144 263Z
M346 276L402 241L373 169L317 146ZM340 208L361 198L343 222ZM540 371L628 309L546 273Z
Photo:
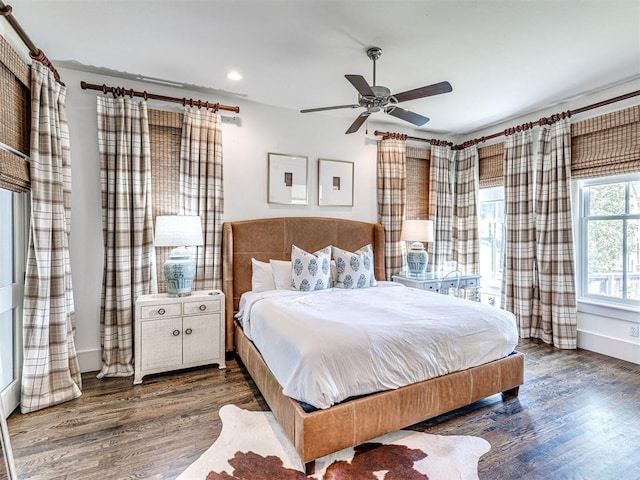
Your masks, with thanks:
M519 352L423 382L343 402L307 413L282 393L253 343L236 325L236 350L305 468L313 460L386 433L505 392L517 394L524 380Z

